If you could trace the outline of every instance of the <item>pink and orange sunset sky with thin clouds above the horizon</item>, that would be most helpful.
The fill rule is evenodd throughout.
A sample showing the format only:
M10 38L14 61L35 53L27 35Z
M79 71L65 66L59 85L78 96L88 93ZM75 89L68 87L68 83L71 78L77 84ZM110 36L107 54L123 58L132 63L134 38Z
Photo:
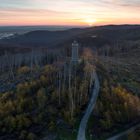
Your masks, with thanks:
M140 0L0 0L0 25L140 24Z

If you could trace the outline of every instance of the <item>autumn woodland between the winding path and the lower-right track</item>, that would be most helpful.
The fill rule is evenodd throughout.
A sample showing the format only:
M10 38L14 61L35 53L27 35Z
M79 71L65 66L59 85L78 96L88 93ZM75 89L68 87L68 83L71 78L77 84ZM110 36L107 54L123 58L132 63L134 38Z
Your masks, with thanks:
M105 139L140 122L140 98L116 82L102 64L98 73L101 89L88 133L94 139Z

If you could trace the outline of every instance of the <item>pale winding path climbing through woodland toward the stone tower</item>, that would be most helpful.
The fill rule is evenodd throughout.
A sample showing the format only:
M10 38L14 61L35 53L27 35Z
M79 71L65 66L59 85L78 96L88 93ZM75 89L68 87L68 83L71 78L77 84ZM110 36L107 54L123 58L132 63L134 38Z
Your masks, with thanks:
M89 117L90 117L90 115L95 107L96 100L97 100L98 93L99 93L99 89L100 89L100 84L99 84L99 79L98 79L97 73L93 72L92 76L95 79L94 88L92 90L92 97L90 99L90 102L89 102L89 105L88 105L87 110L85 112L85 115L83 116L83 118L81 120L77 140L86 140L85 131L86 131L87 122L88 122L88 119L89 119Z

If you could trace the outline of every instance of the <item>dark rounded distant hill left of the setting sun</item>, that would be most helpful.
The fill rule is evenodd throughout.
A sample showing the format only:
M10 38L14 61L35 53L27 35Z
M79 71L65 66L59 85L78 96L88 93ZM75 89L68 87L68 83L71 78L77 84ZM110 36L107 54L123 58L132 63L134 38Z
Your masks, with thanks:
M54 46L60 42L66 41L80 33L82 29L69 29L64 31L47 31L38 30L25 33L23 35L16 35L12 38L3 39L1 42L8 44L20 44L28 46Z

